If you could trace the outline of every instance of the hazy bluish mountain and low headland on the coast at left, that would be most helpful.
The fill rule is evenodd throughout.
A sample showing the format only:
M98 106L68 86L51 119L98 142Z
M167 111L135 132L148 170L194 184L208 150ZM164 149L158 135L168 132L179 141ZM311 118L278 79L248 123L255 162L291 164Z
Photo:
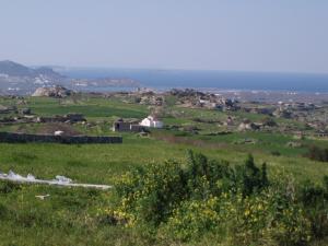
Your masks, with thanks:
M59 71L58 71L59 70ZM36 89L61 85L75 91L99 91L113 87L139 87L128 78L70 78L61 74L62 67L26 67L14 61L0 61L0 94L32 94Z

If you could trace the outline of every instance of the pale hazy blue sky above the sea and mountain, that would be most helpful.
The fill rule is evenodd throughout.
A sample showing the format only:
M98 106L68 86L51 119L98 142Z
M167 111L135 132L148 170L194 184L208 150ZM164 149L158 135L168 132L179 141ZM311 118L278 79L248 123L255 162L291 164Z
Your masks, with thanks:
M327 0L0 0L0 60L328 72Z

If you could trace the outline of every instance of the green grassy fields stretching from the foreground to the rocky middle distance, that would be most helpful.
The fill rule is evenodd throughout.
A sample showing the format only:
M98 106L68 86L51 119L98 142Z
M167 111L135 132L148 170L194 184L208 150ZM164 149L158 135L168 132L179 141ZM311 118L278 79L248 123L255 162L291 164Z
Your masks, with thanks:
M13 99L1 99L2 105L15 105ZM151 112L144 105L127 104L117 98L78 96L75 98L26 98L19 108L30 107L39 116L81 113L93 127L71 126L87 134L117 134L110 131L115 118L141 119ZM224 120L225 113L169 107L179 117L165 116L166 125L180 127L195 125L195 117ZM234 113L230 113L234 114ZM235 114L244 118L247 115ZM249 116L249 118L255 116ZM256 116L260 117L260 116ZM196 124L197 125L197 124ZM65 175L77 183L112 185L117 177L132 167L149 163L161 164L165 160L184 162L188 150L201 152L214 160L226 160L232 165L243 163L253 153L257 163L266 162L269 176L279 173L291 175L296 183L311 179L319 184L328 175L328 164L304 157L308 145L328 147L325 140L295 140L293 136L265 132L233 132L209 136L210 130L222 127L200 122L198 134L184 130L156 130L149 137L122 133L122 144L0 144L0 171L10 169L21 175L28 173L39 178ZM0 131L38 132L42 124L2 126ZM251 143L245 140L253 140ZM289 142L300 147L289 147ZM279 153L272 154L273 152ZM39 200L35 196L49 194ZM113 191L78 188L12 185L0 183L0 245L212 245L211 238L201 242L179 243L165 239L152 241L140 236L136 230L109 225L98 215L99 210L110 208ZM327 245L328 241L312 243Z

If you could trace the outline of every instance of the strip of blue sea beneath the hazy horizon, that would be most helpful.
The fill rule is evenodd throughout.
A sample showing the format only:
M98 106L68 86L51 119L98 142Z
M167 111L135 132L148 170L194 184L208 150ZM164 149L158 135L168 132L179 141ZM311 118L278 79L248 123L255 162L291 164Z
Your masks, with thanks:
M70 78L80 79L133 79L144 87L159 90L172 87L194 87L321 93L328 92L328 73L315 74L104 68L74 68L60 70L60 73Z

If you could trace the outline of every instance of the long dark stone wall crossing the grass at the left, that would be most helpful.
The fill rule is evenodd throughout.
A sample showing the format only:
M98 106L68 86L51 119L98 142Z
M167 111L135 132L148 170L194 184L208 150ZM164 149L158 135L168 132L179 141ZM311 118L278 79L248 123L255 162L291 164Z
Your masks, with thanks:
M122 143L121 137L90 137L90 136L51 136L51 134L25 134L0 132L0 142L26 143L26 142L57 142L68 144L81 143Z

